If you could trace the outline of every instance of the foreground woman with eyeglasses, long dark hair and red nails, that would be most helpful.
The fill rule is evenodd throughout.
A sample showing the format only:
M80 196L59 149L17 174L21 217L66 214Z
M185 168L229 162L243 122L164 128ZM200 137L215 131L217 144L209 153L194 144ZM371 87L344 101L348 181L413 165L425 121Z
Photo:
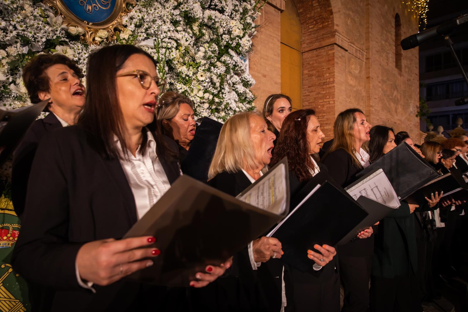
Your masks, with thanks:
M15 270L44 290L38 311L185 309L183 288L123 279L164 254L157 238L121 238L180 175L174 141L146 128L165 82L133 45L94 52L87 72L78 124L37 149ZM206 286L229 266L207 266L190 285Z

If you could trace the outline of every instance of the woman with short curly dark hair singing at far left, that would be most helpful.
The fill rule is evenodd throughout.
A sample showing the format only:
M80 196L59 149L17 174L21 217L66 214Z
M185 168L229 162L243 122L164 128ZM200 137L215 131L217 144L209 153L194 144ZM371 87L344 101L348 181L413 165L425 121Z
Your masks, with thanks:
M49 111L49 114L33 123L15 150L12 197L15 212L20 218L24 211L29 171L37 145L48 132L76 123L85 103L82 77L76 62L62 54L37 55L23 68L23 82L31 103L50 100L44 110Z

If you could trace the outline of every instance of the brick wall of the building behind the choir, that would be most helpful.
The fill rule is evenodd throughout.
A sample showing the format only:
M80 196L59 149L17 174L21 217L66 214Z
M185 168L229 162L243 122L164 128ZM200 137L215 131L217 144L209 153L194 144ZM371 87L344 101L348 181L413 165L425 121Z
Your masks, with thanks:
M401 0L287 1L294 1L302 29L302 106L317 111L326 140L336 115L358 107L372 125L408 131L420 142L418 50L403 51L401 68L395 66L395 14L401 38L418 28L408 7ZM265 6L257 20L249 62L259 107L280 86L279 15L278 6Z

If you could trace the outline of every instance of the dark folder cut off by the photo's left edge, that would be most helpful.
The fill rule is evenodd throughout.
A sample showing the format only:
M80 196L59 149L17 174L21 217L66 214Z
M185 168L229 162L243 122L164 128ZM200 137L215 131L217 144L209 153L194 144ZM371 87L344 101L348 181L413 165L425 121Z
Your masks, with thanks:
M49 99L15 110L0 110L0 166L16 149L26 131L40 115Z

